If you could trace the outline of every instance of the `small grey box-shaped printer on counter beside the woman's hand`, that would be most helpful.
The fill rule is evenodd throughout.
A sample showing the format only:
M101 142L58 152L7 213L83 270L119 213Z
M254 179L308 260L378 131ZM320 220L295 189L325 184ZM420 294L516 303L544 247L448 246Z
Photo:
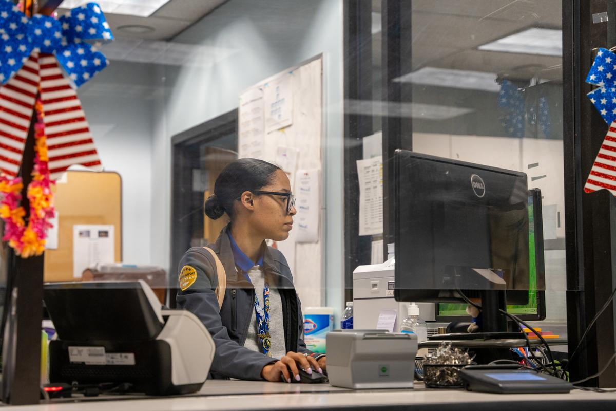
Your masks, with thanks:
M343 388L413 388L415 334L336 330L327 334L327 376Z

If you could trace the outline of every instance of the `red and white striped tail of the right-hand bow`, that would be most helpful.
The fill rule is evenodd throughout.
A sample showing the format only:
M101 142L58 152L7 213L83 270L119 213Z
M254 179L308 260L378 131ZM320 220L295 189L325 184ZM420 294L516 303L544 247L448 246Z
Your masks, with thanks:
M610 124L584 185L584 191L587 193L601 189L616 195L616 121Z

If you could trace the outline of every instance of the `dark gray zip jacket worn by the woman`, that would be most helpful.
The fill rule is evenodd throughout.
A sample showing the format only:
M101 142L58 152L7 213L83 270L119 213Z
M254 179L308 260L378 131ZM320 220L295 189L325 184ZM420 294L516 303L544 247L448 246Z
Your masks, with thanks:
M221 260L227 275L227 290L220 312L214 294L218 285L216 262L202 247L190 248L180 259L178 272L182 272L186 266L192 272L192 267L197 278L192 285L177 293L177 306L197 315L216 343L210 378L263 380L261 370L276 359L244 347L254 310L254 287L235 269L228 229L229 226L222 229L216 243L209 245ZM277 288L280 293L286 351L312 354L301 338L304 320L293 287L291 269L285 256L275 248L266 246L265 242L263 269L270 288Z

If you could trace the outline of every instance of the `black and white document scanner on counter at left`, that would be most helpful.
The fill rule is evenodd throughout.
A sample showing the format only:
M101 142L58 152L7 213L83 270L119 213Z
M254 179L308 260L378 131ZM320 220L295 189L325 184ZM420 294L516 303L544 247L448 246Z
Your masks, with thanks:
M57 332L52 383L129 383L167 395L198 391L208 377L208 330L192 312L161 309L143 280L46 283L44 301Z

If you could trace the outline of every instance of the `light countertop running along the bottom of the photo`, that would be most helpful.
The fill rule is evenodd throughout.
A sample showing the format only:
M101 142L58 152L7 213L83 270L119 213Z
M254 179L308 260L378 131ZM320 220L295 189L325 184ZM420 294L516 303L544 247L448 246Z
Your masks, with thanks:
M12 408L12 407L9 407ZM616 410L616 393L485 394L464 390L362 390L330 385L261 381L208 381L199 393L178 397L113 396L15 407L23 411L226 411L226 410Z

